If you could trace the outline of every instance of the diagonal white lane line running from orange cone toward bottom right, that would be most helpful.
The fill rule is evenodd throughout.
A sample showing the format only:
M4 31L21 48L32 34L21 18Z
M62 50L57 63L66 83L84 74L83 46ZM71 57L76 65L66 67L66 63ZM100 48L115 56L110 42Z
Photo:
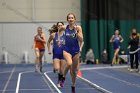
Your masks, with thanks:
M91 85L92 87L96 88L97 90L99 90L99 91L101 91L103 93L112 93L112 92L110 92L110 91L98 86L97 84L95 84L95 83L93 83L93 82L91 82L91 81L89 81L89 80L87 80L87 79L85 79L83 77L78 76L78 78L83 80L84 82L88 83L89 85Z

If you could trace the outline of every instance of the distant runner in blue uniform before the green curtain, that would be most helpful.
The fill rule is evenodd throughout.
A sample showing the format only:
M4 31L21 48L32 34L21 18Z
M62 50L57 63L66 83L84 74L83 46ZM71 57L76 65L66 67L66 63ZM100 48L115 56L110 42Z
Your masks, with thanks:
M111 66L118 61L118 53L120 50L120 43L123 42L122 36L119 34L119 30L115 30L115 34L112 35L110 42L113 43L113 48L115 50L114 57L111 63Z

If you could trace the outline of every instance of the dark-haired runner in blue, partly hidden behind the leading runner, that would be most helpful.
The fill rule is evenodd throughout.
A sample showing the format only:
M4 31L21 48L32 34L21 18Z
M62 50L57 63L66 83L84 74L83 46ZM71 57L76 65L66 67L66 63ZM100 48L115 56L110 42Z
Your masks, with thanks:
M53 65L54 72L58 72L58 87L60 86L60 81L64 73L65 60L63 57L63 43L64 43L64 30L61 30L61 27L64 26L63 22L57 22L57 28L54 29L54 32L50 35L47 46L48 53L51 54L51 42L53 41Z

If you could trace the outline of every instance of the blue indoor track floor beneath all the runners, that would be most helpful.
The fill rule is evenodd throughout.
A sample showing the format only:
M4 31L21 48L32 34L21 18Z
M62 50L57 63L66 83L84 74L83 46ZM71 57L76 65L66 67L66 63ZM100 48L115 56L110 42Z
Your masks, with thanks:
M43 72L46 72L57 85L57 74L53 73L52 70L51 64L43 66ZM139 74L134 75L104 65L81 65L81 72L83 78L112 93L139 93L140 91ZM20 79L19 74L21 74ZM18 79L20 80L19 88L17 88ZM58 93L43 73L34 72L33 64L0 64L0 93L16 93L16 90L18 93ZM71 93L69 73L66 77L65 86L59 90L62 93ZM101 93L101 91L83 82L83 80L77 79L76 93Z

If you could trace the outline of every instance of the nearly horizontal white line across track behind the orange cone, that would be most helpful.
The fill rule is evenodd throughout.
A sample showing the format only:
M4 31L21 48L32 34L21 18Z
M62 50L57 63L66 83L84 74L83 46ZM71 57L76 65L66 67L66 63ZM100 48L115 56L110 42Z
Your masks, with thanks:
M125 67L128 67L128 66L106 66L106 67L85 67L85 68L80 68L80 70L92 70L92 69L105 69L105 68L125 68Z

